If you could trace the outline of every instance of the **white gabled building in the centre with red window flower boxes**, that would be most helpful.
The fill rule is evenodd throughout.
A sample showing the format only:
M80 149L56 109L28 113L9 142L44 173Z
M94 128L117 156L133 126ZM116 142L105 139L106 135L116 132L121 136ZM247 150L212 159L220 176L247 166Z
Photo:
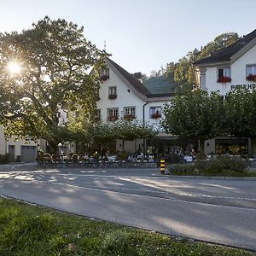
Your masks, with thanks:
M102 73L102 84L97 102L98 113L103 122L114 121L120 117L134 117L145 124L154 125L161 133L160 119L163 117L164 104L169 102L172 93L152 94L136 78L117 63L107 58L107 69ZM142 139L125 142L125 150L137 151L146 148ZM121 151L122 143L116 142L116 150Z

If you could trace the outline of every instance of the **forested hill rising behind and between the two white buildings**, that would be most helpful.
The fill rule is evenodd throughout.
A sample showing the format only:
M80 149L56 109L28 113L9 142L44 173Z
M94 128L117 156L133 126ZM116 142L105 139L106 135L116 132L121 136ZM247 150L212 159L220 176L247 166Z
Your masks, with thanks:
M212 55L212 53L224 49L235 43L240 37L236 32L225 32L214 38L201 49L194 49L180 58L176 63L166 63L159 71L152 71L149 78L143 78L143 84L152 93L183 92L191 90L195 84L192 63ZM175 49L173 49L175 50Z

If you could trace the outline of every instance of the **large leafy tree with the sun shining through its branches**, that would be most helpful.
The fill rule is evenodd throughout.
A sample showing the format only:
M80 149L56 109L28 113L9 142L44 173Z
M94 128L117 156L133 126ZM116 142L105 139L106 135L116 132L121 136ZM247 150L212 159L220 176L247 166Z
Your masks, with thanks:
M59 108L96 107L103 52L84 38L83 27L45 17L32 29L0 34L0 111L7 135L46 139L55 148L67 127ZM97 74L97 72L95 73Z

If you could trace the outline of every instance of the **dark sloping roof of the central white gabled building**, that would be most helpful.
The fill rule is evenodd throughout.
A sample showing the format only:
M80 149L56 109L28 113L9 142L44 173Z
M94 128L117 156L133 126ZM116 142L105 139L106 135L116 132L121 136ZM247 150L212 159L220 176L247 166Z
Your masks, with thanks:
M145 85L142 84L136 77L131 75L131 73L128 73L123 67L120 67L117 63L109 58L108 61L119 71L119 73L121 73L121 75L134 87L135 90L144 96L148 96L148 94L150 94L150 91L145 87Z

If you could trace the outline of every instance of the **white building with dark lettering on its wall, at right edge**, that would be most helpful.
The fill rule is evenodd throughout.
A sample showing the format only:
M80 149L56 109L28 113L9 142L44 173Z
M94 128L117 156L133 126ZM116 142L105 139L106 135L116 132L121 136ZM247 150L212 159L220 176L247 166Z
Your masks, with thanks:
M256 89L256 30L229 47L195 61L194 71L197 88L219 91L222 96L237 86ZM233 143L239 143L240 147L249 147L250 144L247 143L247 138L236 142L216 138L206 141L206 153L215 152L219 147L229 147ZM249 149L247 148L248 151Z

